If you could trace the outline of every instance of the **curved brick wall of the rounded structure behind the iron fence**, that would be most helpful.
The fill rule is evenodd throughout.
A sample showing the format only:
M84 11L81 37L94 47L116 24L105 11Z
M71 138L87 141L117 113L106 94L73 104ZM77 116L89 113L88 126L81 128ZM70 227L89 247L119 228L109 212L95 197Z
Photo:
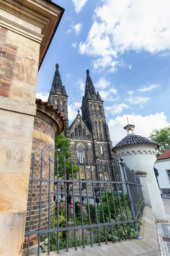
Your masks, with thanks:
M41 131L49 135L53 140L55 137L54 128L45 120L35 116L34 119L34 129ZM35 153L36 160L39 160L41 154L43 153L43 158L45 161L48 160L49 154L51 154L51 159L54 160L54 146L46 143L43 140L33 137L32 150ZM40 162L34 162L34 178L40 178ZM32 162L30 177L32 175ZM43 162L42 169L42 179L49 178L49 161L47 163ZM54 163L51 162L51 179L54 178ZM41 229L48 229L48 182L42 182L42 197L41 197ZM34 181L33 183L33 194L32 194L32 209L31 209L31 230L37 230L39 228L39 209L40 209L40 182ZM29 206L30 206L30 196L31 196L31 183L28 189L28 204L27 204L27 217L26 217L26 231L28 231L28 220L29 220ZM51 200L50 200L51 210L54 209L54 183L51 183ZM28 237L25 238L26 247ZM30 246L37 244L37 237L30 237Z

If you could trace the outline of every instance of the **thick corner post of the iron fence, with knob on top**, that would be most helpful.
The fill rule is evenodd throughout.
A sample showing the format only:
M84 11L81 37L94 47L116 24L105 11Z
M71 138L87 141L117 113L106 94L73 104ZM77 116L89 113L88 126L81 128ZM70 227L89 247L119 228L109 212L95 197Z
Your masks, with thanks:
M124 174L124 177L125 177L125 181L127 181L125 162L123 162L123 160L124 160L123 157L120 157L120 161L121 161L120 165L122 166L122 169L123 169L123 174ZM128 195L128 198L129 198L130 209L131 209L131 212L132 212L132 218L134 220L135 231L138 232L138 234L139 234L137 219L136 219L136 216L135 216L135 211L134 211L134 208L133 208L133 201L132 201L132 197L131 197L131 194L130 194L130 188L129 188L128 183L126 184L126 189L127 189L127 195ZM138 235L138 236L136 236L136 239L142 239L142 236Z

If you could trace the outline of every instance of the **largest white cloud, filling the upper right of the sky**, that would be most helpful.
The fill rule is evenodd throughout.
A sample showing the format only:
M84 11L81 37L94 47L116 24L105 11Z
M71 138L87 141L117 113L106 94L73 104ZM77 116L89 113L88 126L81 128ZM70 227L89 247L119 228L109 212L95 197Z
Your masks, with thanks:
M105 0L94 10L94 23L85 41L79 44L81 54L98 58L94 68L111 67L129 50L150 53L170 49L169 0ZM104 59L104 64L100 64ZM131 66L129 65L129 68Z

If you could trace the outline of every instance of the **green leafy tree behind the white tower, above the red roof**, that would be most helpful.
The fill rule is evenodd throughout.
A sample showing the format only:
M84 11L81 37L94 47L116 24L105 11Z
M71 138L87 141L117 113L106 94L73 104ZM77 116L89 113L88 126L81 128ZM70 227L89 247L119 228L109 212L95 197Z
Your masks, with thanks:
M160 145L157 149L156 156L158 157L170 148L170 125L160 130L153 130L149 138Z

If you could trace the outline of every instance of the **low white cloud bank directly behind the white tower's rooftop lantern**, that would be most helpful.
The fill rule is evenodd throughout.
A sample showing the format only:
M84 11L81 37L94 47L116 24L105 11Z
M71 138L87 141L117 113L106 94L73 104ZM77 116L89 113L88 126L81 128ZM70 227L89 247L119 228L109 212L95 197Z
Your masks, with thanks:
M123 127L127 125L127 117L129 123L135 125L134 133L144 137L148 137L149 134L153 131L153 129L160 129L169 125L167 122L167 116L164 115L164 112L156 113L154 115L150 114L147 116L117 116L115 119L110 119L108 122L113 146L115 146L120 140L122 140L127 135L127 131L123 129Z

